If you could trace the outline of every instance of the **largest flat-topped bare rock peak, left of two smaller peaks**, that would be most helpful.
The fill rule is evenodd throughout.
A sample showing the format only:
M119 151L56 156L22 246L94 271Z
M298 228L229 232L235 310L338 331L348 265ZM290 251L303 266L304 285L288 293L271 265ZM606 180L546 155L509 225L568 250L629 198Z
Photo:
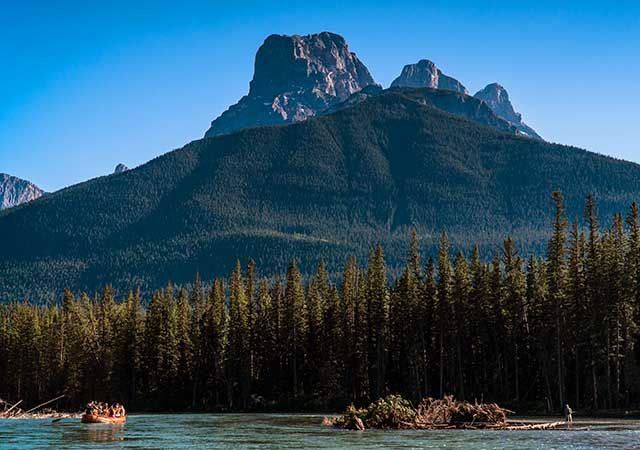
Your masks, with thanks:
M372 84L342 36L274 34L258 49L249 93L211 122L205 137L300 122Z

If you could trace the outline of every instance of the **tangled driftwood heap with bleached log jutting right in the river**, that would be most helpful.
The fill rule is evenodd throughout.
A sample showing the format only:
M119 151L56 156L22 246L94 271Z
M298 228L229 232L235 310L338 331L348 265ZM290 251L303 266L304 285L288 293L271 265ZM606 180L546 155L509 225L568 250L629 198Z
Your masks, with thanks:
M399 395L390 395L367 408L349 406L342 416L327 419L325 423L360 431L367 428L544 430L564 425L564 422L513 424L507 421L507 414L511 413L513 411L495 403L469 403L452 396L426 398L414 408Z

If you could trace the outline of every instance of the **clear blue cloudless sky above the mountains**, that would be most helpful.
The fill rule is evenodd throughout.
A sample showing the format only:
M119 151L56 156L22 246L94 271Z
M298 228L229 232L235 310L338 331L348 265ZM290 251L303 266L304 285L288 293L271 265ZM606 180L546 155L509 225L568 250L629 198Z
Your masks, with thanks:
M267 35L324 30L385 87L429 58L503 84L550 141L640 162L640 2L391 3L6 2L0 172L55 190L180 147L247 92Z

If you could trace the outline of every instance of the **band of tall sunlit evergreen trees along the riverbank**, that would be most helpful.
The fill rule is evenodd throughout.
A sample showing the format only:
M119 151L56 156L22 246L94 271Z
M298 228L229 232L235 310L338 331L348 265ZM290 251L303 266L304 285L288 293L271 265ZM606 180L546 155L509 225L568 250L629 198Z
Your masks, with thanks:
M569 225L554 193L545 258L506 239L493 259L455 256L442 234L423 263L387 279L383 249L350 258L334 284L323 264L307 282L195 278L143 299L112 288L61 305L0 307L0 396L27 404L65 393L130 409L333 409L387 393L453 394L520 408L640 404L638 207L600 229L593 198ZM485 262L489 261L489 262Z

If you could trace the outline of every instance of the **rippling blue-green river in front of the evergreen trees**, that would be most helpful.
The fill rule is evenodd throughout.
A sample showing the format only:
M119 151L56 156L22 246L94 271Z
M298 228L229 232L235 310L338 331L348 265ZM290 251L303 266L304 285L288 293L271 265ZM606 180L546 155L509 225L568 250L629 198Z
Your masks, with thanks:
M124 426L78 419L0 421L0 449L207 448L640 448L640 421L577 420L574 431L406 430L365 432L322 425L304 414L131 415Z

